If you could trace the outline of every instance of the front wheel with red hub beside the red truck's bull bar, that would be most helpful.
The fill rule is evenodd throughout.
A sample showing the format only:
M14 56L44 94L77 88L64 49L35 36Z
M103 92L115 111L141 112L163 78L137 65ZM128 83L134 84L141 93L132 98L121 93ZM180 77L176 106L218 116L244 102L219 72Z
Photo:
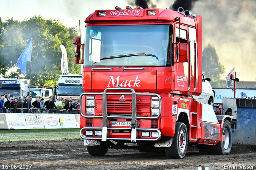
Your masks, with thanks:
M188 146L188 131L184 123L177 122L175 126L172 145L165 148L165 154L168 158L184 158Z

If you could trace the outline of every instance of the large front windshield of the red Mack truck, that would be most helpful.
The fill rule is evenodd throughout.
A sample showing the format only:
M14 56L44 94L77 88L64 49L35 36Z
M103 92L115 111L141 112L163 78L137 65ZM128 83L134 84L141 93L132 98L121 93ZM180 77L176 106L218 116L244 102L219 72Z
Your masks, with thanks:
M84 67L171 66L169 25L87 26Z

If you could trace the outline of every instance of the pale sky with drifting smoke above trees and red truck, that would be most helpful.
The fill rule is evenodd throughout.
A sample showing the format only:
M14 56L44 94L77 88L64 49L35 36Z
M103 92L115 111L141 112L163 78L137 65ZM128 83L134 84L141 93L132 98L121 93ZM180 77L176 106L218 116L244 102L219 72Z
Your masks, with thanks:
M202 16L203 48L210 43L226 69L235 67L242 81L256 79L256 1L255 0L0 0L0 17L23 21L34 15L59 20L64 26L84 31L84 20L95 10L144 2L152 8L176 9L182 3L192 14ZM142 5L141 5L142 6ZM190 8L190 9L189 9Z

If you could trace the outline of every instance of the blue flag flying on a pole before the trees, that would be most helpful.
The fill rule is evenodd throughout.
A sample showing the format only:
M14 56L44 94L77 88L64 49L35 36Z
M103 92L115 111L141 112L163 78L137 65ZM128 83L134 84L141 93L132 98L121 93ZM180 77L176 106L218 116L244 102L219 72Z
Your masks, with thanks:
M26 48L20 54L20 57L17 61L17 67L20 68L21 72L25 75L26 74L26 65L27 61L31 61L31 52L32 52L32 39L31 38L26 46Z

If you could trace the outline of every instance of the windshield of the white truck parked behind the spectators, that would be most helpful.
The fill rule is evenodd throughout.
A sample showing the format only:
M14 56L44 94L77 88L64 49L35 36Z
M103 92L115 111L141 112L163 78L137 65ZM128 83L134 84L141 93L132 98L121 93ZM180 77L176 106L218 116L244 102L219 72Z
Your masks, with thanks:
M58 95L81 95L84 93L82 86L72 86L72 85L59 85Z

